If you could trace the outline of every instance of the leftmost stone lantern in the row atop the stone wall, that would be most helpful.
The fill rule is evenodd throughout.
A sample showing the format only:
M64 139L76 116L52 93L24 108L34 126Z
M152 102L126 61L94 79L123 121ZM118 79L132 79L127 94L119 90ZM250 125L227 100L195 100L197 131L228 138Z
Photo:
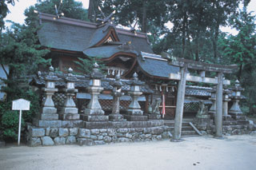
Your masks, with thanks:
M50 66L49 74L45 77L46 86L42 89L42 91L46 93L46 99L42 103L42 114L40 116L40 120L58 120L57 109L54 107L54 101L52 99L54 93L58 92L58 89L55 88L55 81L58 80L59 78L54 75L54 67Z

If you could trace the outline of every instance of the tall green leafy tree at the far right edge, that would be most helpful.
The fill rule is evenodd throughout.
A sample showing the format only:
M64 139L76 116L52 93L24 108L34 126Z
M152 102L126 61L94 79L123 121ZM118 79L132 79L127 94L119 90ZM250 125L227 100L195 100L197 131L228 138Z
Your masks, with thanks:
M246 7L230 18L230 24L238 30L237 35L230 35L223 40L222 57L239 65L238 80L245 88L247 112L254 113L256 110L256 18L247 13Z

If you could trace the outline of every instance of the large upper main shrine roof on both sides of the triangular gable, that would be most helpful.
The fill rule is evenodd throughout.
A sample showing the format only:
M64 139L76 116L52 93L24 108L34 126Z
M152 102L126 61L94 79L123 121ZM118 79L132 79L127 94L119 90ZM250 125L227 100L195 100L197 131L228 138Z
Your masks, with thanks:
M42 28L38 30L41 45L53 49L64 49L82 52L100 42L109 28L95 23L83 22L76 19L60 18L54 20L54 15L40 14ZM113 27L113 26L110 26ZM147 41L146 34L131 33L129 30L115 29L120 42L131 42L136 51L153 53ZM109 56L110 57L110 56Z

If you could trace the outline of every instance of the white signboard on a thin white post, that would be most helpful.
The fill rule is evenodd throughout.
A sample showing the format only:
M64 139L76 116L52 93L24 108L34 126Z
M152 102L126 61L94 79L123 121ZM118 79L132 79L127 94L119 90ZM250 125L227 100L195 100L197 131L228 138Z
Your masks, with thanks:
M18 99L13 101L13 110L19 110L19 121L18 121L18 145L21 141L21 128L22 128L22 110L30 110L30 101L25 99Z

